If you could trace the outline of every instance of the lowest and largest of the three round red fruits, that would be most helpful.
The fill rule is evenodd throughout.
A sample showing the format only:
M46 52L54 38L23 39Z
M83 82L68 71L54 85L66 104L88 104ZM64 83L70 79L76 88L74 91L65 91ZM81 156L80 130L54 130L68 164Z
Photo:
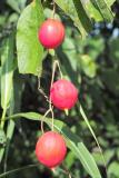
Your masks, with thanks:
M65 159L67 147L61 135L54 131L43 134L36 145L38 160L48 168L59 166Z

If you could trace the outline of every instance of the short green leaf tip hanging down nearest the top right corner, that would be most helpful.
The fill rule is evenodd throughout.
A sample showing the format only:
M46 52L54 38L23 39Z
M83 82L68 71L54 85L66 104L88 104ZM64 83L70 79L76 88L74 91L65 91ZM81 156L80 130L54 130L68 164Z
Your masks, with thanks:
M100 11L103 20L110 22L113 20L113 13L111 11L110 6L115 2L115 0L107 1L107 0L91 0L95 7Z

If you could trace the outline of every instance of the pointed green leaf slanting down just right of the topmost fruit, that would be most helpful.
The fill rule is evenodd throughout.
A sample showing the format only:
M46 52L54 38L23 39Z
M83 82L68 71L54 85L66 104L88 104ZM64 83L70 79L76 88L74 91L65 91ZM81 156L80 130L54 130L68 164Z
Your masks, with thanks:
M83 24L81 23L79 19L78 11L76 10L73 0L54 0L56 3L65 11L67 16L71 18L75 26L79 29L82 38L86 38L87 30L83 28Z

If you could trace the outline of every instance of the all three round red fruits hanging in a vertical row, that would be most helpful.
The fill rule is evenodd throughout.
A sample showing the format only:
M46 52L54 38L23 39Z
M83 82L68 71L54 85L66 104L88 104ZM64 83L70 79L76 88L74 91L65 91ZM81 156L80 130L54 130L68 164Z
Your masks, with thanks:
M44 48L56 49L65 39L65 27L57 19L48 19L40 27L38 38ZM71 109L78 100L78 90L72 82L61 78L51 83L49 100L60 110ZM66 141L60 134L47 131L38 139L36 156L48 168L59 166L66 154Z

